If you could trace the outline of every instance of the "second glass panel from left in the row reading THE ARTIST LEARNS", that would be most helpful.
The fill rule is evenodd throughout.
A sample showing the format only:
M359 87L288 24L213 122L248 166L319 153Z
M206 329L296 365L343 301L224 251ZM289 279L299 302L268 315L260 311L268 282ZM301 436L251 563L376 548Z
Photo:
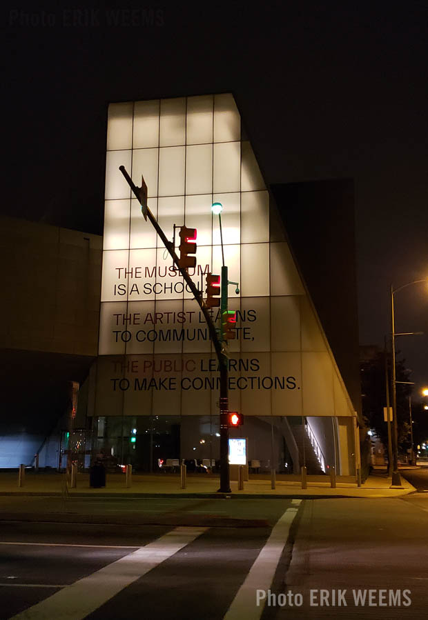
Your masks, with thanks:
M152 353L155 325L154 301L128 301L126 326L123 328L130 333L130 336L127 335L126 353Z

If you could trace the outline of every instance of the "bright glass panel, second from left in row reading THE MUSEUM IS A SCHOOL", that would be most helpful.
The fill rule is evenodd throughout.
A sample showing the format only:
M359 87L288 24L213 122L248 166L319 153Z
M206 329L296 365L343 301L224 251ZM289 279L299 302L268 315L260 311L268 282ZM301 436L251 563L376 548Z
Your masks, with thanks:
M128 268L129 301L155 298L156 250L130 250Z

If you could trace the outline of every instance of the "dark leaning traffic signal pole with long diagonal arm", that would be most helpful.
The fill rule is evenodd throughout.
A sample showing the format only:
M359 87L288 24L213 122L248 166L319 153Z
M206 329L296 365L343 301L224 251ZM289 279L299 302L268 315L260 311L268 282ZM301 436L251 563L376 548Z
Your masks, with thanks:
M144 194L144 190L142 191L142 188L146 187L146 184L144 183L144 179L142 181L142 188L137 188L137 186L133 182L133 179L131 179L128 172L126 172L125 166L119 166L119 170L124 175L128 183L128 186L130 186L131 190L133 190L135 197L138 199L139 203L142 205L142 212L143 212L144 218L145 219L148 218L150 220L150 223L152 223L153 228L155 228L157 234L159 234L159 237L162 239L162 243L164 243L166 250L168 250L169 254L171 255L175 266L177 267L179 272L182 274L184 281L186 281L186 284L188 285L188 288L190 288L191 292L193 293L193 297L195 297L197 303L199 304L200 309L202 310L202 313L204 314L206 323L208 325L208 331L210 332L211 341L213 342L215 353L217 355L217 359L218 359L219 367L220 367L220 489L219 491L221 493L230 493L231 488L230 488L230 480L229 480L228 441L227 441L228 432L227 432L227 429L222 430L222 420L224 420L224 417L222 417L222 414L226 414L226 417L227 417L227 410L228 410L228 373L227 373L226 355L224 354L222 350L222 345L220 343L220 340L218 339L217 332L215 331L213 319L211 319L211 315L208 312L208 308L206 308L206 305L204 304L204 301L202 299L202 293L200 293L197 290L187 270L179 266L179 259L177 257L177 254L175 254L174 244L171 243L171 241L168 241L168 239L166 238L164 234L164 231L157 223L157 219L155 218L153 213L148 208L146 202L144 203L144 199L145 201L147 199L147 189L145 190L144 197L142 195ZM226 271L226 274L227 274L227 271ZM227 275L226 275L226 282L227 282ZM227 283L226 283L226 288L227 288Z

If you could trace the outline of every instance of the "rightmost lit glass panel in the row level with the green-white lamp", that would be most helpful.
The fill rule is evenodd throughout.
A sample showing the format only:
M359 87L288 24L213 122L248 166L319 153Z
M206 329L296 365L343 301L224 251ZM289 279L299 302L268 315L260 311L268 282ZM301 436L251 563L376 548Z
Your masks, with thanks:
M241 207L241 243L269 241L268 192L243 192Z

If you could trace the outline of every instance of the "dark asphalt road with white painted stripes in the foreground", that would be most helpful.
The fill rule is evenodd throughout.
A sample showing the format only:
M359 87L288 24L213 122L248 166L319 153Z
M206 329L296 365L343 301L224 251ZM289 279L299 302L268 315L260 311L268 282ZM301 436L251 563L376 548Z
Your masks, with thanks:
M421 508L418 496L425 501L419 493L109 504L134 517L143 508L162 510L160 517L191 515L186 526L55 523L55 512L49 523L3 521L0 618L425 620L428 503ZM106 506L91 510L101 514ZM206 515L220 520L206 526ZM240 527L225 527L228 517ZM320 590L327 592L322 606ZM356 604L354 591L364 590L364 605ZM293 604L299 594L301 606ZM338 606L343 600L347 606Z

